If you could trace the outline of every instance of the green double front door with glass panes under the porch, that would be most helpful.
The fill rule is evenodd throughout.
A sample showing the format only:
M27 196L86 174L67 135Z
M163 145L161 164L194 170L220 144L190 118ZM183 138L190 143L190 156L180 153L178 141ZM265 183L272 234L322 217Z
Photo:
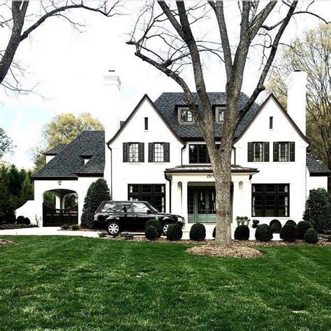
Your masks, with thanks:
M189 223L215 223L216 192L214 186L189 187Z

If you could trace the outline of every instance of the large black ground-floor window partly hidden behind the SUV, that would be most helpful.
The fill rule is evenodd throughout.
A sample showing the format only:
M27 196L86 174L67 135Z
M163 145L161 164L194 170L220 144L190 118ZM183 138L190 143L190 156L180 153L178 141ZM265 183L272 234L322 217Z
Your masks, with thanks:
M160 212L165 212L165 185L128 184L128 200L147 201Z

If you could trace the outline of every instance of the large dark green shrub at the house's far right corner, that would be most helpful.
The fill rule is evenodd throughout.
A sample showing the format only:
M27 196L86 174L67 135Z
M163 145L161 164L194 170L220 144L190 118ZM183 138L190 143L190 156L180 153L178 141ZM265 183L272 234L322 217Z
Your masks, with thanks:
M309 193L303 215L318 233L331 230L331 199L325 189L314 189Z

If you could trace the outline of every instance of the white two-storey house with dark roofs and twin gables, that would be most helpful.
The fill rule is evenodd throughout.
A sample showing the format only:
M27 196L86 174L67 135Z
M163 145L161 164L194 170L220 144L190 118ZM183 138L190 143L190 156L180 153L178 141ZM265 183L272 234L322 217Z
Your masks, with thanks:
M327 189L330 171L307 154L306 80L301 71L290 75L287 112L271 94L262 105L254 104L237 127L233 219L300 221L309 190ZM116 76L114 82L118 89ZM217 142L226 94L213 92L209 98ZM240 105L247 98L242 93ZM89 185L105 177L113 200L147 200L160 211L181 214L186 223L214 223L212 168L183 93L163 93L154 102L146 94L116 133L105 125L105 132L84 131L71 144L45 153L45 168L32 177L35 198L17 209L17 216L40 217L44 226L68 223L68 218L80 223ZM57 209L43 207L47 191L55 193ZM64 196L73 192L78 194L78 211L64 210Z

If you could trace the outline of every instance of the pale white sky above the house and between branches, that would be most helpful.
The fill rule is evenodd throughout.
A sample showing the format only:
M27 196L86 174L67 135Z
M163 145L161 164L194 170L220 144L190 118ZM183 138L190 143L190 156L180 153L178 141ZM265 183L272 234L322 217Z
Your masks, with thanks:
M103 75L110 68L115 68L122 80L122 119L145 93L154 100L163 91L181 91L170 78L135 57L133 46L125 44L135 22L136 9L144 3L128 2L126 12L131 15L112 18L75 10L71 18L86 25L83 33L75 31L64 20L52 18L20 45L15 59L27 67L22 85L28 88L39 83L36 91L46 99L35 94L8 96L0 89L0 127L5 129L17 146L13 155L4 158L6 161L18 167L32 167L29 151L41 142L42 126L61 112L73 112L75 115L91 112L101 122L111 120L102 87ZM34 6L37 4L34 3ZM327 13L328 17L325 18L330 20L330 2L323 1L314 6L316 13L323 17ZM238 31L233 20L235 17L229 17L230 36L235 36ZM284 40L300 36L304 30L316 25L318 20L305 15L292 22ZM205 25L201 24L199 28L203 30ZM207 29L206 32L209 33ZM3 49L5 42L1 38L0 31ZM223 66L216 59L205 64L207 89L223 91ZM251 59L244 77L243 91L247 94L256 83L256 68L256 62ZM186 78L193 86L191 75Z

